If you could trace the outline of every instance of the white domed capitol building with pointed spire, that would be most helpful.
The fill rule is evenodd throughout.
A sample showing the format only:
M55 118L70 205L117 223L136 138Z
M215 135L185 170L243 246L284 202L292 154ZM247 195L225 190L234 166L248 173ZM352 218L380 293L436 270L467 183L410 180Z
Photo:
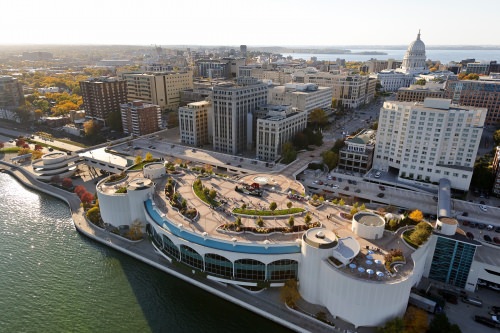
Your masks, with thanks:
M384 91L397 91L402 87L409 87L414 83L416 76L428 72L425 65L425 44L420 39L420 31L406 50L401 68L383 70L371 75L380 81Z

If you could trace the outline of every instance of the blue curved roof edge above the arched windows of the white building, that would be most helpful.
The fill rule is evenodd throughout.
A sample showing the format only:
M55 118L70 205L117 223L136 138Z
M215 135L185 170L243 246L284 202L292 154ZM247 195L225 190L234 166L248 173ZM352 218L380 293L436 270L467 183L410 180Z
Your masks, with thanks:
M171 221L162 218L156 210L153 209L151 199L144 202L146 212L149 217L160 227L170 231L173 235L182 238L190 243L210 247L222 251L250 253L250 254L291 254L300 252L300 244L243 244L237 242L228 242L220 239L204 238L199 234L192 233L179 228Z

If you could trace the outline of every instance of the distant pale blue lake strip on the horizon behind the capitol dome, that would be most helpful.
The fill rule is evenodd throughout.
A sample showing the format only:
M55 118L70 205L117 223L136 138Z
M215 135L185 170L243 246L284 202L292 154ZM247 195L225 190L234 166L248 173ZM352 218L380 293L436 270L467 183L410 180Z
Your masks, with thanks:
M313 54L313 53L283 53L283 56L291 55L294 59L309 60L311 57L317 57L318 60L335 61L337 58L346 61L367 61L372 58L379 60L396 59L403 60L406 49L402 50L351 50L352 52L376 51L387 53L385 55L361 55L361 54ZM500 50L426 50L427 59L439 60L443 64L450 61L461 61L474 58L476 61L500 61Z

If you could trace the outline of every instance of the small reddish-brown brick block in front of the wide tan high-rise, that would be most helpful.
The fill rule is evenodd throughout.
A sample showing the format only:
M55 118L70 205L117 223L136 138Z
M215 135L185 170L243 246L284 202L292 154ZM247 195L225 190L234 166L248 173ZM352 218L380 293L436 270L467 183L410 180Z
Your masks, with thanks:
M161 109L158 105L133 101L120 105L123 133L146 135L161 129Z

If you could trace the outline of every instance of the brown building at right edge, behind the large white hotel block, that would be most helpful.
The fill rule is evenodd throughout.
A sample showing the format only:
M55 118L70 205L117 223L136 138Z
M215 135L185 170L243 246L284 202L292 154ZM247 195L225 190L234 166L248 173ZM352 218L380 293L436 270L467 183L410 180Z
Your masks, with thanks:
M486 125L500 124L500 80L450 80L445 90L453 103L488 109Z

